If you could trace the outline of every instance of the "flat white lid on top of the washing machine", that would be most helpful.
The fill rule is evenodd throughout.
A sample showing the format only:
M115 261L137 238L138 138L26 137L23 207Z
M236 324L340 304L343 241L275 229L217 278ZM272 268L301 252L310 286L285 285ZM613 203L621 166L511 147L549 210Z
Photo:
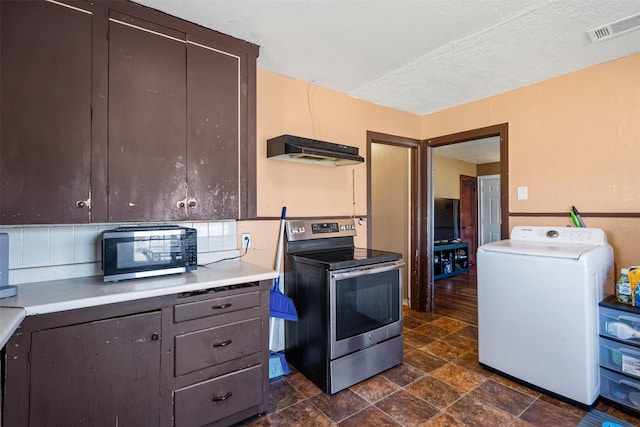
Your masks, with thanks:
M592 244L551 244L547 242L523 242L519 240L500 240L480 247L487 252L502 252L514 255L579 259L582 254L593 250Z

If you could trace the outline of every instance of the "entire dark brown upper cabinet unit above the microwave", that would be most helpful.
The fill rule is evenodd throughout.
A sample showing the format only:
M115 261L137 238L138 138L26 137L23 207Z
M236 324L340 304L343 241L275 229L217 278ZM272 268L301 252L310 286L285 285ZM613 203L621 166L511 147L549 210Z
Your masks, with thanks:
M0 3L2 223L255 216L258 47L78 4Z

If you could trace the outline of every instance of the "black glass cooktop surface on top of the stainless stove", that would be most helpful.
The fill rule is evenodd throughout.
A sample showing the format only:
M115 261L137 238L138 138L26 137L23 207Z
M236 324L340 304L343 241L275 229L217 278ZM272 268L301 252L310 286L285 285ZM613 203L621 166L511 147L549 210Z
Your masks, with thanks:
M317 265L329 270L397 261L401 257L401 254L395 252L364 248L342 248L294 255L297 262Z

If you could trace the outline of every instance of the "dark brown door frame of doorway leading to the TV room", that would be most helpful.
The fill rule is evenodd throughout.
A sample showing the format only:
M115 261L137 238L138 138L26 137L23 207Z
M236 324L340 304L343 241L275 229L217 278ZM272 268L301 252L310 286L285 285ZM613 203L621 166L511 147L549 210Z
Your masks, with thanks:
M426 259L433 260L433 157L434 149L444 145L458 144L461 142L469 142L476 139L489 138L492 136L500 137L500 236L505 239L509 235L509 124L501 123L493 126L487 126L478 129L472 129L464 132L453 133L449 135L438 136L426 139L426 166L427 178L425 184L427 186L427 216L425 223L422 224L424 230L427 230L426 239ZM421 311L433 312L434 310L434 284L433 284L433 262L428 263L427 267L427 283L426 283L426 305L419 308ZM413 308L413 307L412 307Z

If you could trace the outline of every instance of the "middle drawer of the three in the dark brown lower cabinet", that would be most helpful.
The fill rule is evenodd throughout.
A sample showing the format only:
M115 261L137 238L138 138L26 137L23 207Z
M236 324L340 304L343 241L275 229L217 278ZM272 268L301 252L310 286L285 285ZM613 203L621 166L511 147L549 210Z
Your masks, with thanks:
M260 351L259 317L176 336L175 375Z

